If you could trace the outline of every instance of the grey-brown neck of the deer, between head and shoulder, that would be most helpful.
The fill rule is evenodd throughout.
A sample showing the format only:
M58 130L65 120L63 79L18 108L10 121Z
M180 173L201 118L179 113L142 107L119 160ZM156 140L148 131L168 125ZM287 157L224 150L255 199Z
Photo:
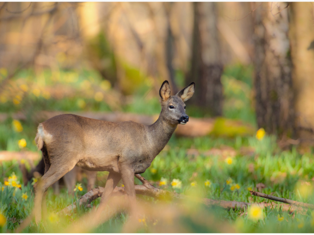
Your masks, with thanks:
M160 113L157 121L148 126L148 134L151 140L151 152L154 153L154 158L166 146L172 134L176 130L178 124L170 124Z

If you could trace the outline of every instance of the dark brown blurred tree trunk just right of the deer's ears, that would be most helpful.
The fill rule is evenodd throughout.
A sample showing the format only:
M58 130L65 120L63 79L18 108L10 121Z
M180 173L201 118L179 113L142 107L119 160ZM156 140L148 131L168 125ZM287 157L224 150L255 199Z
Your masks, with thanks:
M217 11L215 2L193 2L194 28L191 69L188 83L196 83L195 104L213 116L222 115L222 84L220 77L223 65L218 39Z

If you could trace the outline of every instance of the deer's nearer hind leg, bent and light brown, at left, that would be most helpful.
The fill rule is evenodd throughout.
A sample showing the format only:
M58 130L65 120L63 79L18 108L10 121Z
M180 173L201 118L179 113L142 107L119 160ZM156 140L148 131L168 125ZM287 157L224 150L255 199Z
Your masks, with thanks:
M46 162L45 162L46 164ZM35 211L35 221L38 224L41 220L41 209L42 202L45 204L46 201L43 200L43 196L46 196L47 189L52 186L54 182L59 180L62 176L64 176L67 172L73 169L76 165L75 162L67 163L66 165L63 163L50 163L46 165L47 172L44 176L34 185L35 191L35 202L34 202L34 211ZM46 170L45 170L46 171Z

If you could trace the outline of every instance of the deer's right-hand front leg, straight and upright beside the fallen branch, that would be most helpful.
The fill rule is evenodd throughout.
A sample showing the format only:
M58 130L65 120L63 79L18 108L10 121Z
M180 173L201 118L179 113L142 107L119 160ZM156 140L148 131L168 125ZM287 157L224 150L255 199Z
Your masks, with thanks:
M135 188L134 188L134 169L130 164L119 164L121 178L124 184L125 191L129 198L131 211L134 212L136 208Z

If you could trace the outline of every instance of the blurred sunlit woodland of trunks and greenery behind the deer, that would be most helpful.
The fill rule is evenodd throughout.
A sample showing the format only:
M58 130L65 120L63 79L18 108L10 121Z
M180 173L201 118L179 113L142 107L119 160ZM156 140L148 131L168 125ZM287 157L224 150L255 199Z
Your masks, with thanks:
M311 202L313 198L299 197L294 185L300 180L311 185L314 177L308 168L313 164L313 75L311 2L2 2L1 179L19 169L14 168L19 161L12 152L25 154L18 160L33 152L36 157L31 158L38 160L33 138L39 122L76 113L150 124L160 112L161 83L168 80L176 94L193 81L196 92L186 102L191 121L178 128L165 151L175 159L171 151L179 154L183 149L183 155L193 159L202 155L205 162L212 155L223 161L236 157L234 168L218 176L223 182L233 175L244 186L245 177L252 176L247 188L262 182L270 187L265 189L269 193ZM265 130L264 142L264 134L255 137L257 130ZM26 143L18 144L20 139ZM210 149L220 152L206 155ZM252 155L253 166L243 170L249 176L240 176L247 155ZM281 158L283 162L270 172L270 165ZM182 161L189 164L189 160ZM165 167L158 161L152 165L155 170ZM187 185L196 179L196 169L184 173ZM164 173L155 170L145 177L160 180ZM199 176L209 177L205 171ZM260 172L258 176L254 171ZM101 180L98 183L102 185ZM221 190L217 189L219 196L206 195L221 199ZM248 195L240 195L225 196L250 202ZM307 215L310 221L311 212ZM228 216L236 218L233 212ZM10 221L8 228L19 224ZM252 226L245 231L265 231Z

